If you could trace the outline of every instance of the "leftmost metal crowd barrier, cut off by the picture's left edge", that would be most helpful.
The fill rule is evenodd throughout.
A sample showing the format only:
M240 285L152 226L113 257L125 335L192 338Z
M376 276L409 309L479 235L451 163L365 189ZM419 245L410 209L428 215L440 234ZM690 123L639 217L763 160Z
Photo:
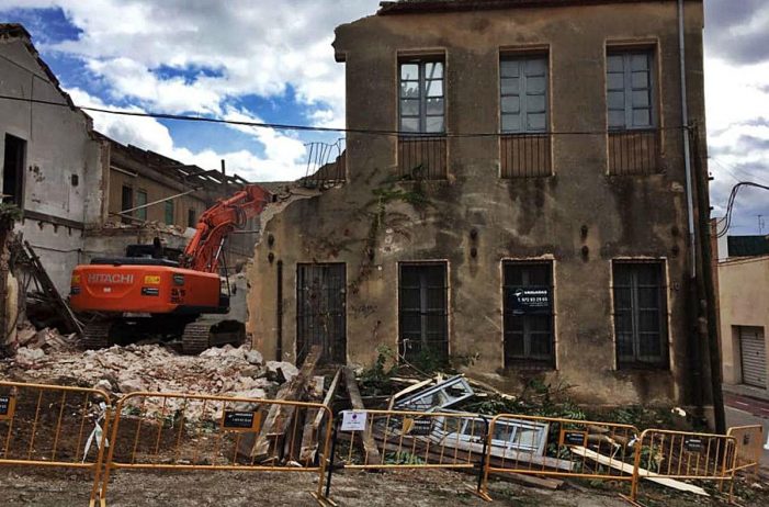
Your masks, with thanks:
M110 405L100 390L0 382L0 465L89 471L94 506Z

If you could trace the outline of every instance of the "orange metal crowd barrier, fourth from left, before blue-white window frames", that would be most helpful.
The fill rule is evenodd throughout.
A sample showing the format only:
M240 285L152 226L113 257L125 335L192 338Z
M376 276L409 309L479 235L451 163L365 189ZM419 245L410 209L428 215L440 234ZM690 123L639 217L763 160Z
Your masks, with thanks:
M482 491L491 474L633 481L630 425L500 414L491 419Z

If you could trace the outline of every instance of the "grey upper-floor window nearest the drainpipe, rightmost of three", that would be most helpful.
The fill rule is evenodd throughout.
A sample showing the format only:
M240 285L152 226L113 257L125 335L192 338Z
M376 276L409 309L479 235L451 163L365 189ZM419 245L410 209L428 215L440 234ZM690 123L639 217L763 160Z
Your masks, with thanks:
M607 55L609 128L654 126L653 54L648 50Z

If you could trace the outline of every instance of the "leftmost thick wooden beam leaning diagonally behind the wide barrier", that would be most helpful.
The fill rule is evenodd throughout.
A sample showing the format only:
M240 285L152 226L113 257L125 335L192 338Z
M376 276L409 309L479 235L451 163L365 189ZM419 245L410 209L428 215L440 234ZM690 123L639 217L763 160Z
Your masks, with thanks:
M275 399L298 402L304 398L307 385L313 379L315 365L320 359L320 352L319 346L313 346L299 369L299 373L280 388ZM292 405L271 405L259 436L256 438L256 443L253 443L255 439L251 433L251 438L242 438L240 440L238 452L256 462L264 458L275 458L274 455L268 455L268 453L271 448L274 449L273 454L278 453L279 441L289 431L294 418L294 412L295 407Z

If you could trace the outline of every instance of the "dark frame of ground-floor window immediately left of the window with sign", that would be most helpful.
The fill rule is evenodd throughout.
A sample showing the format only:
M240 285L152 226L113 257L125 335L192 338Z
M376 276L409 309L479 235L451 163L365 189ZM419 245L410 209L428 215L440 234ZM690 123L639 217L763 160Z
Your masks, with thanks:
M419 270L418 285L405 285L404 273L406 270ZM429 280L429 271L440 270L440 281ZM437 262L400 262L398 263L398 353L407 360L419 358L423 353L439 356L439 359L449 358L449 264L445 261ZM431 304L430 293L440 291L440 304ZM419 291L419 308L406 307L407 291ZM434 296L434 294L433 294ZM411 338L411 333L406 325L410 318L419 318L418 340ZM440 329L433 328L440 323ZM408 335L408 336L406 336ZM431 336L439 336L431 339ZM417 343L416 346L412 343Z

